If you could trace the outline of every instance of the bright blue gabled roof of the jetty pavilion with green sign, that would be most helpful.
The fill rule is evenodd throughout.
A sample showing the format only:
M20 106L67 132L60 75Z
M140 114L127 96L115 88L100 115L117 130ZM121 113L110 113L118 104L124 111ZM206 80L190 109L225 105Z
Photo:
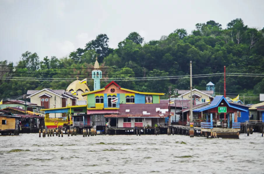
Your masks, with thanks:
M225 102L228 104L228 106L230 108L235 108L237 110L244 111L244 112L248 111L248 108L246 108L246 107L239 106L239 105L235 106L235 104L231 105L230 103L228 103L228 101L226 100L226 98L223 95L217 95L214 97L214 100L210 103L210 105L202 107L202 108L194 109L193 112L202 112L204 110L209 110L209 109L218 107L218 105L220 104L220 102L222 100L225 100Z

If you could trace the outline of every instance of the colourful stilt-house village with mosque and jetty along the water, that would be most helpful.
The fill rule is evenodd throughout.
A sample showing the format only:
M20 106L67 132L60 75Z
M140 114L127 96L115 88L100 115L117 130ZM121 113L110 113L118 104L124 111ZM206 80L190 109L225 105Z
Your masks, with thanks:
M205 90L192 89L191 84L191 89L171 90L168 99L160 99L164 93L126 89L115 81L102 88L101 78L96 59L92 91L87 78L81 81L77 77L66 90L28 90L24 99L30 102L2 100L0 134L39 133L39 137L180 134L239 138L240 133L249 136L261 132L263 136L264 100L244 105L239 95L233 99L226 97L225 84L224 95L215 95L214 84L209 82Z

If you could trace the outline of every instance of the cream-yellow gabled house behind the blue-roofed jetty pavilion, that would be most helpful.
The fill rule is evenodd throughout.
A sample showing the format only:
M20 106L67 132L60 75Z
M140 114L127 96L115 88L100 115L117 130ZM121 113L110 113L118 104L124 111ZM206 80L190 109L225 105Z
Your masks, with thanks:
M192 90L192 98L195 100L196 104L202 104L205 102L210 102L211 99L213 99L214 97L212 95L209 95L203 91L200 91L198 89L193 89ZM183 93L182 95L178 96L179 98L184 98L187 100L191 100L191 91L190 90L186 90L185 93Z

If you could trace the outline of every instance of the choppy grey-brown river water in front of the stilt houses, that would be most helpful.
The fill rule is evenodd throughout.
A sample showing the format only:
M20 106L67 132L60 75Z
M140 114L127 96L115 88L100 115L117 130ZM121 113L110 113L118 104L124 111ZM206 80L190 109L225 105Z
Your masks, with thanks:
M0 173L264 173L264 138L0 136Z

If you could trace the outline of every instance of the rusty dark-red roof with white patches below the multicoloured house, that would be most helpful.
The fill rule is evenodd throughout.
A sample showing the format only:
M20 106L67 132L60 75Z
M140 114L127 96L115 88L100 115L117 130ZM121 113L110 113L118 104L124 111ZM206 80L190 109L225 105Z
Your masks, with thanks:
M163 109L168 110L168 104L120 104L120 114L105 117L167 117L169 112Z

